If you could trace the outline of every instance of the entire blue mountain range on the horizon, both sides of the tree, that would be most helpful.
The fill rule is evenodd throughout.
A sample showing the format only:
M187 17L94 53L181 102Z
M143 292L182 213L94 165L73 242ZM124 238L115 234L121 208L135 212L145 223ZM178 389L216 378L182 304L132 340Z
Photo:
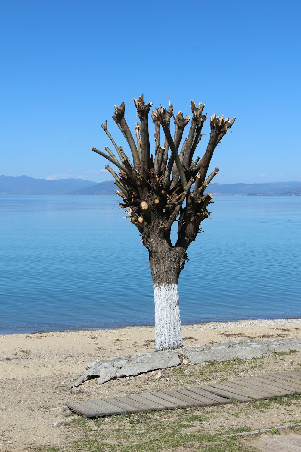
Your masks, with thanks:
M0 194L4 195L108 195L114 193L113 181L92 182L82 179L33 179L28 176L0 176ZM213 184L207 189L215 195L301 196L301 182L267 182L264 184Z

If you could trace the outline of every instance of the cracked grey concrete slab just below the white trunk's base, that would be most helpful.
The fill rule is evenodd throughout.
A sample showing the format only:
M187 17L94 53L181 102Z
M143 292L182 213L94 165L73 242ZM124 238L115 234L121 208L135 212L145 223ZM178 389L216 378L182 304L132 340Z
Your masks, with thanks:
M180 364L177 353L153 352L133 355L130 360L120 368L117 377L135 376L143 372L151 372L157 369L166 369Z

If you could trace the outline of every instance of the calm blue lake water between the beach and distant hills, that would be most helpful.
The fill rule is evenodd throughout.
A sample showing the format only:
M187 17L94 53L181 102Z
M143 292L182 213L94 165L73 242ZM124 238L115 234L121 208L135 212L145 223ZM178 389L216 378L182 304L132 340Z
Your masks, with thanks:
M301 197L216 196L183 324L301 317ZM109 196L0 196L0 334L153 325L148 252Z

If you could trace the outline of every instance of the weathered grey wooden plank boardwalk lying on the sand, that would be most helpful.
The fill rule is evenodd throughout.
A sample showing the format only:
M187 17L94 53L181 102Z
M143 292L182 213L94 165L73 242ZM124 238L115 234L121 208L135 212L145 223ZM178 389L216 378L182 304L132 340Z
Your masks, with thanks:
M83 400L65 405L87 418L95 418L110 414L227 404L233 400L245 403L252 399L268 399L275 395L290 394L301 394L301 372L271 373L262 377L210 383L207 386L189 389Z

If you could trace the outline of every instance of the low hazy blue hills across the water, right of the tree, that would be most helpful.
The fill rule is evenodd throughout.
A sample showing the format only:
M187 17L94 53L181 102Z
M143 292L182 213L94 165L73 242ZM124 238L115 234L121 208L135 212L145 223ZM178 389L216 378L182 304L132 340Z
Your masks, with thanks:
M214 184L210 190L215 195L278 195L300 196L301 182L266 182L264 184Z

